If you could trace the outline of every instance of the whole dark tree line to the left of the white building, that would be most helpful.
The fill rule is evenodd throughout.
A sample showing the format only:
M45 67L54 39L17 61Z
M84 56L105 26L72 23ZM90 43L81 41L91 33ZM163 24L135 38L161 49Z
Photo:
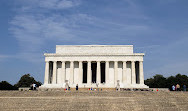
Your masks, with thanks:
M0 82L0 90L18 90L19 87L30 87L31 84L35 83L37 86L41 86L40 81L36 81L30 74L23 75L20 80L12 85L7 81Z

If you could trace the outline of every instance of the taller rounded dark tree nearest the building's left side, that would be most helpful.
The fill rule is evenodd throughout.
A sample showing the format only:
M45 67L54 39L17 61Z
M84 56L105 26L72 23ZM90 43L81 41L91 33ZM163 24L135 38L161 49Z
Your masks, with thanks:
M30 76L30 74L23 75L17 84L15 84L16 87L30 87L31 84L35 83L37 86L40 86L42 83L39 81L36 81L33 77Z

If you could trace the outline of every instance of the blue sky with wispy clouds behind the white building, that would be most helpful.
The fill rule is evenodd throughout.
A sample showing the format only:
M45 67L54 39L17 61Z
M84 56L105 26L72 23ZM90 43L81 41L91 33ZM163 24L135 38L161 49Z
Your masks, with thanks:
M134 45L145 79L188 75L187 0L0 0L0 81L43 82L55 45Z

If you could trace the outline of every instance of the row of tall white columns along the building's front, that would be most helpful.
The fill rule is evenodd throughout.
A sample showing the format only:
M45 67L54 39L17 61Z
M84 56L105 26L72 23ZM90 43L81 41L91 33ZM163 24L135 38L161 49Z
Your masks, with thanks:
M53 61L53 74L52 74L52 84L63 84L65 82L66 76L65 76L65 61L62 62L62 73L57 75L57 61ZM79 61L79 84L82 84L83 79L83 61ZM91 61L87 61L88 67L87 67L87 83L91 83L92 77L91 77ZM105 61L105 78L106 83L109 83L109 61ZM127 83L127 74L126 74L126 66L127 61L123 61L123 76L122 79L124 83ZM100 81L100 61L97 61L97 82ZM130 75L129 75L130 76ZM57 79L58 78L58 79ZM124 80L125 79L125 80ZM114 83L117 84L118 80L118 61L114 61ZM143 61L139 61L139 80L140 84L144 84L144 74L143 74ZM74 61L70 61L70 83L74 83ZM45 66L45 78L44 78L44 84L49 84L49 61L46 61ZM136 84L136 73L135 73L135 61L131 61L131 83L130 84Z

